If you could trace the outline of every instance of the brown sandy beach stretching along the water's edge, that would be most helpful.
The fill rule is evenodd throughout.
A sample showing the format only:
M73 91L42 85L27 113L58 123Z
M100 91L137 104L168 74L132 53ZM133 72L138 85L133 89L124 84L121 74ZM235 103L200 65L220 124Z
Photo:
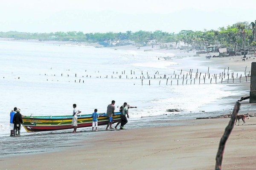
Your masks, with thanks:
M122 49L136 50L137 47L128 46ZM144 49L146 48L141 48L140 51ZM169 50L160 50L160 52L164 54ZM193 54L195 51L186 55ZM195 57L195 60L208 61L205 55L207 54L201 55L200 58ZM239 72L244 72L247 68L246 72L249 73L254 59L251 57L242 61L241 57L212 58L209 59L210 62L206 62L206 65ZM249 78L248 81L250 81ZM244 89L244 96L249 96L250 83L238 85ZM233 99L240 99L240 97L231 96L232 101L230 99L225 101L234 102L235 105L236 100L233 101ZM240 114L246 112L254 114L254 105L249 104L249 100L241 104ZM244 109L244 106L248 107ZM215 105L215 107L221 107L221 105ZM59 144L57 150L0 158L0 169L210 170L215 168L219 141L229 121L229 118L161 119L153 121L151 127L139 126L127 130L101 129L99 132L85 132L90 135L79 132L75 134L79 140L74 142L68 140L71 134L67 134L68 143ZM253 147L256 139L256 118L251 117L245 121L245 125L241 125L242 121L240 121L239 126L234 126L227 141L222 163L223 170L254 170L256 167L254 163L256 150ZM135 123L140 124L139 121ZM58 135L58 133L52 135Z

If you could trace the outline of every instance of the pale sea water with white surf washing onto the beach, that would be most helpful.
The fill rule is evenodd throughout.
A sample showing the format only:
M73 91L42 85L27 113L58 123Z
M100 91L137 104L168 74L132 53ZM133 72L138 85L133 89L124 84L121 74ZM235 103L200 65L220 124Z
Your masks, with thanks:
M148 127L158 119L229 113L235 105L229 96L244 95L244 89L239 83L221 83L219 73L224 68L209 68L210 59L202 61L194 55L195 51L187 54L134 46L95 48L0 41L0 157L15 154L10 149L13 138L9 137L9 113L14 107L25 116L57 116L72 115L74 103L82 114L91 114L95 108L105 113L112 100L116 111L127 102L137 106L129 109L128 128ZM80 131L88 136L89 130ZM19 140L19 147L28 141L33 147L30 151L21 147L19 153L38 153L55 148L54 144L80 139L69 132L27 133L22 128L21 137L15 140Z

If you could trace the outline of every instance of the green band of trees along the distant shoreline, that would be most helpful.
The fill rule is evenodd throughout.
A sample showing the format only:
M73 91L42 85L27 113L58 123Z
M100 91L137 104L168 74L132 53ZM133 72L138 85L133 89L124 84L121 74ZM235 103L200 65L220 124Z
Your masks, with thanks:
M182 30L178 34L157 31L126 31L107 33L83 33L82 31L51 32L51 33L26 33L26 32L0 32L0 37L20 40L56 40L77 42L104 42L106 40L120 41L132 40L137 45L146 45L149 40L159 43L183 41L193 47L216 45L221 47L238 48L256 47L256 20L254 22L239 22L232 26L220 27L217 30L192 31Z

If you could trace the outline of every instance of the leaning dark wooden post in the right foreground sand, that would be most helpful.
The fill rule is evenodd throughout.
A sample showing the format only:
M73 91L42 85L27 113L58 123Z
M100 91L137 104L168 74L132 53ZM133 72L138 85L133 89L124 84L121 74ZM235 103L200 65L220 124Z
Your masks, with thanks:
M218 152L216 155L216 164L215 164L215 170L221 170L221 164L222 164L222 158L223 158L223 154L224 154L224 149L225 149L225 144L227 142L228 137L230 136L230 133L234 127L234 123L235 123L235 119L236 119L236 115L240 109L240 103L236 102L235 108L233 110L230 122L228 123L223 136L221 137L221 141L218 147Z

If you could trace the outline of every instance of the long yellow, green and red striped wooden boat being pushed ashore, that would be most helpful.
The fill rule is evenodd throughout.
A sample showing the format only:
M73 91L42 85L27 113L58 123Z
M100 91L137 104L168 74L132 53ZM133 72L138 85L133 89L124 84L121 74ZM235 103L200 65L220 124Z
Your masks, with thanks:
M121 112L113 115L113 123L119 122ZM99 114L98 125L107 125L108 117L106 113ZM40 132L49 130L63 130L74 128L72 123L73 116L24 116L23 127L27 132ZM91 127L93 118L91 114L79 114L77 118L78 127Z

